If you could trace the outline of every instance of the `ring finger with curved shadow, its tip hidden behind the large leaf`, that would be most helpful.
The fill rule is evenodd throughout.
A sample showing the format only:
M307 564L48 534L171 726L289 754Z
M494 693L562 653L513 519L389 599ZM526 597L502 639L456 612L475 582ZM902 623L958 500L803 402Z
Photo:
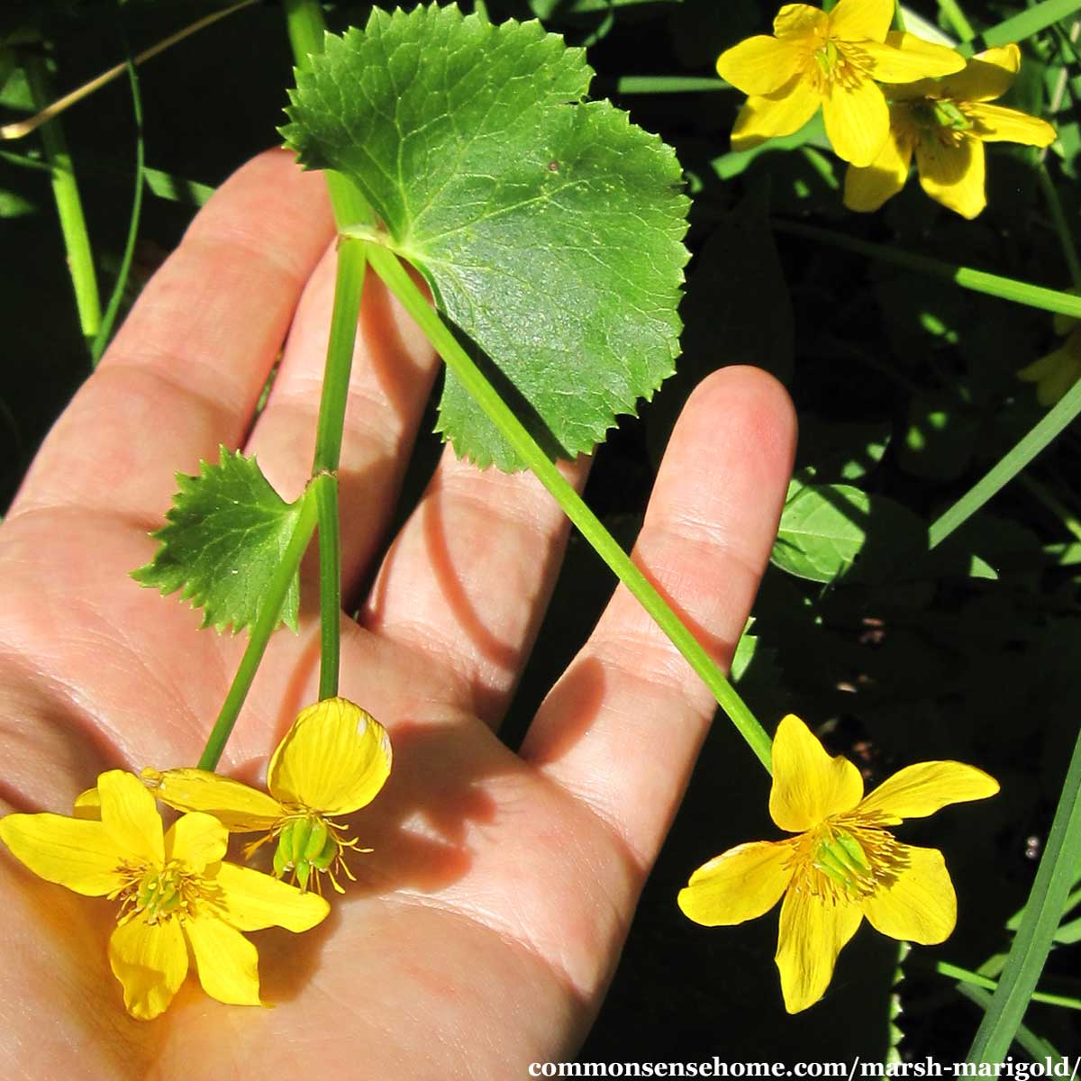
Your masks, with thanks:
M562 464L585 483L588 463ZM383 563L361 625L444 670L448 702L495 724L547 606L568 521L529 472L448 448Z

